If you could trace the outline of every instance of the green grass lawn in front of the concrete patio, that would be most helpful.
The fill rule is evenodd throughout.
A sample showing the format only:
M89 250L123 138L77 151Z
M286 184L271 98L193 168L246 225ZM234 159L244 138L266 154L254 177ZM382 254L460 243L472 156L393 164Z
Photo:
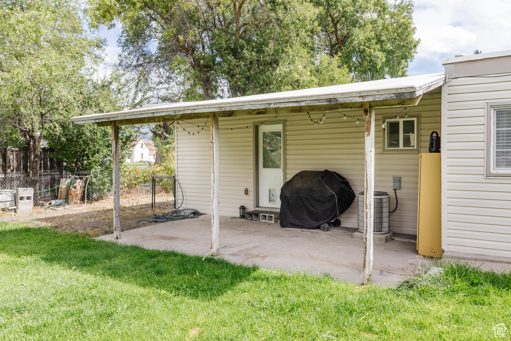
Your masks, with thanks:
M494 339L510 284L457 264L357 287L0 223L0 340Z

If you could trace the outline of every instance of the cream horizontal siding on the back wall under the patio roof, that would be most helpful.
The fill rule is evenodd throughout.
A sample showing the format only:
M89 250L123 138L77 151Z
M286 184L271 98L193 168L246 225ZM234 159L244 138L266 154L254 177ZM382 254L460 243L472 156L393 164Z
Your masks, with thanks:
M396 115L402 107L376 108L376 122L382 116ZM314 126L307 112L286 113L277 120L286 120L286 179L301 170L336 171L346 177L356 194L363 191L364 173L364 121L362 109L339 110L346 115L360 118L342 119L340 113L326 113L326 120ZM311 112L318 120L322 112ZM427 151L429 135L440 133L440 94L424 95L419 105L409 115L421 115L421 151ZM243 205L253 208L252 174L252 122L261 122L270 115L220 118L220 214L237 216ZM189 120L182 125L189 131L197 131L204 120ZM195 124L195 128L194 125ZM266 124L269 124L266 123ZM241 129L230 128L244 126ZM248 126L248 129L245 127ZM206 130L207 129L207 130ZM178 125L176 144L177 178L184 192L183 208L195 208L204 213L211 212L211 142L209 128L200 134L188 134ZM381 123L376 126L375 136L375 190L390 194L390 208L396 204L392 191L392 176L402 176L402 190L398 191L399 208L390 214L390 230L416 234L417 189L419 184L419 153L382 153ZM419 137L417 136L417 141ZM243 190L248 188L249 195ZM180 194L179 194L180 195ZM357 227L357 199L340 217L343 226Z

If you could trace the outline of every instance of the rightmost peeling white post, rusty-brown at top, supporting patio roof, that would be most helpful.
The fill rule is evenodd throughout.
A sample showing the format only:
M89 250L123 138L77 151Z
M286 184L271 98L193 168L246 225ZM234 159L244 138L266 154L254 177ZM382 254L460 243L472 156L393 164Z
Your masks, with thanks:
M373 280L373 223L375 191L375 109L364 102L364 285Z

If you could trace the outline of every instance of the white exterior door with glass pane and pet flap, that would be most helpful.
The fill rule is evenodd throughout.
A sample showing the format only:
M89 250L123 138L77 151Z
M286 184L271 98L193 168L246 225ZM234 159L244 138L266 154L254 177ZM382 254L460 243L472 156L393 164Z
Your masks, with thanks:
M282 124L259 126L259 206L281 207L284 184Z

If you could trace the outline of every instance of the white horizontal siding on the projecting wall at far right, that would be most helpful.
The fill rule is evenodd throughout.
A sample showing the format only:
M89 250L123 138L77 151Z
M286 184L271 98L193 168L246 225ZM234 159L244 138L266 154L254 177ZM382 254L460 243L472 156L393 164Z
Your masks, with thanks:
M511 99L511 76L459 78L444 86L444 251L511 257L511 179L485 176L486 103Z

